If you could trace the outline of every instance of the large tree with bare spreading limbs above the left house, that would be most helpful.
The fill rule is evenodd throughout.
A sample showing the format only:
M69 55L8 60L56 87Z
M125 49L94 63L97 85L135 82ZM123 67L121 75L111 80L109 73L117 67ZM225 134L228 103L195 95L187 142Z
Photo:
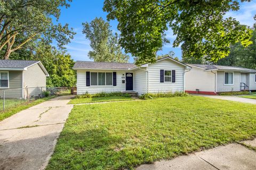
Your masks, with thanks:
M71 1L71 0L67 0ZM68 7L66 0L3 0L0 1L0 52L4 50L4 59L35 40L44 39L51 43L57 40L58 46L70 42L74 32L68 24L54 24L60 16L60 6Z

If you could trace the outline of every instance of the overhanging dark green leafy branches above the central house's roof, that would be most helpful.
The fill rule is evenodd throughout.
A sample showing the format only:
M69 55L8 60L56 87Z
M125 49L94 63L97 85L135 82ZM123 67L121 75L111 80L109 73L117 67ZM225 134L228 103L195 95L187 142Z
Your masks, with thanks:
M242 0L242 2L250 0ZM155 62L156 52L166 42L165 31L172 29L183 56L217 61L229 54L230 44L250 45L251 30L226 12L239 8L236 0L105 0L108 20L117 19L119 43L137 64Z

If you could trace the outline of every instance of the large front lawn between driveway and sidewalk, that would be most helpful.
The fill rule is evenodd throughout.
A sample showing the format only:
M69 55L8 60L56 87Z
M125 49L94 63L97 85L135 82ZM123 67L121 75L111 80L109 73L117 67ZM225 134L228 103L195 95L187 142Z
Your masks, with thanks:
M252 139L255 109L198 96L74 106L46 169L132 169Z

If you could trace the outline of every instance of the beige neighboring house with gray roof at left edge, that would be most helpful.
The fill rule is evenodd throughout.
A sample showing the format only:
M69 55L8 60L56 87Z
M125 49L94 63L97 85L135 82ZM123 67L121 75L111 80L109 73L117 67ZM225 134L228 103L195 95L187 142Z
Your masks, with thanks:
M0 75L0 91L5 91L5 97L23 99L41 94L49 76L40 61L25 60L0 60Z

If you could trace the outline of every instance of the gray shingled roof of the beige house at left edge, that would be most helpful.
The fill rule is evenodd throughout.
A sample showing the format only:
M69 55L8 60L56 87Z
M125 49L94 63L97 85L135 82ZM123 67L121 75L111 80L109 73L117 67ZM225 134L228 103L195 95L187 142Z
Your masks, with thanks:
M26 60L0 60L0 68L6 69L24 69L38 61L26 61Z

